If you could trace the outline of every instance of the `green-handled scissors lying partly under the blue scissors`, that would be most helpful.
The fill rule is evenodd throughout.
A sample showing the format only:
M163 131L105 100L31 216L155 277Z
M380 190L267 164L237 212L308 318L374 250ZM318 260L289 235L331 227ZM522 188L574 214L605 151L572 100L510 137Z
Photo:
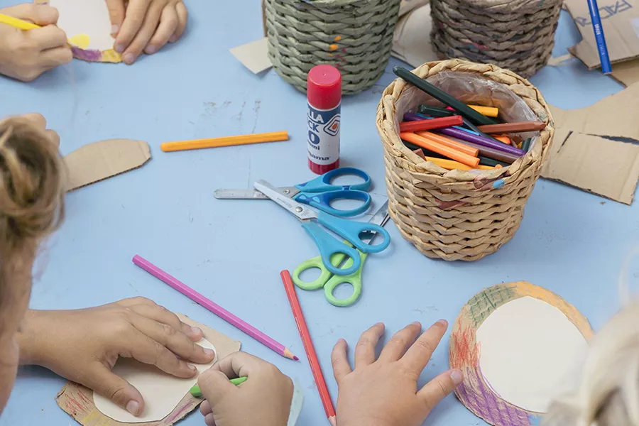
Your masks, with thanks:
M378 224L380 226L384 226L386 222L388 222L388 201L383 204L383 206L373 215L370 221L371 224ZM370 236L363 238L362 240L368 239L368 244L371 244L373 239L377 234L370 234ZM346 246L353 247L349 241L343 241ZM300 263L295 271L293 271L293 283L297 285L297 287L302 290L317 290L318 288L324 288L324 296L326 300L331 305L338 307L346 307L353 305L356 300L359 298L361 294L361 270L364 268L364 261L366 260L366 256L368 253L364 253L362 251L357 250L359 253L359 258L361 259L361 266L350 275L335 275L331 271L329 271L326 266L324 266L324 261L322 261L322 256L317 256L307 261L303 261ZM346 256L344 253L334 253L331 258L331 263L336 268L351 268L353 266L353 259ZM306 281L300 278L300 274L308 269L317 268L321 271L320 277L317 280L307 283ZM338 299L334 296L333 292L335 288L337 288L340 284L350 284L353 288L353 294L350 297L346 297L346 299Z

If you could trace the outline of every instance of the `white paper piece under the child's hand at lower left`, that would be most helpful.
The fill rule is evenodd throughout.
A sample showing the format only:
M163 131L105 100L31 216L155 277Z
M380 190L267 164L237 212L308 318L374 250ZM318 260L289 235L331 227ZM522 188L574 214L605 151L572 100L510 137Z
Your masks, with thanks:
M183 322L195 325L188 318L182 317ZM215 350L215 346L207 339L198 342L200 346ZM217 356L208 364L193 364L197 368L197 376L194 378L177 378L164 373L160 368L143 364L132 358L121 358L113 368L113 372L131 386L140 391L144 398L144 411L138 417L132 415L124 408L119 408L109 398L93 394L93 402L100 413L122 423L158 422L168 416L184 398L190 389L197 384L197 377L207 371L218 361Z

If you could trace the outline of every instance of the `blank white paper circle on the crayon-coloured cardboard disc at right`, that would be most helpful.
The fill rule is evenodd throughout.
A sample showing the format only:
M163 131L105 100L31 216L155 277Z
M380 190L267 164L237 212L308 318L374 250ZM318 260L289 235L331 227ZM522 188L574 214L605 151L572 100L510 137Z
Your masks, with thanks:
M546 413L552 399L574 391L588 344L556 307L520 297L501 305L477 329L479 367L503 400Z

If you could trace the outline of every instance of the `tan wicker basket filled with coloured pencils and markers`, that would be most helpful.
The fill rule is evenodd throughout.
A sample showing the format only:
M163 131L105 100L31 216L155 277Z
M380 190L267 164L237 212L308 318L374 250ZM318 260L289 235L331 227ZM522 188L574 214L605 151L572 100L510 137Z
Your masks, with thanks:
M408 129L402 121L410 119L410 115L418 111L447 111L444 109L445 102L439 102L403 78L392 82L383 92L377 110L377 129L384 149L388 211L402 236L425 256L447 261L476 261L498 251L519 228L525 204L550 152L555 129L545 99L528 80L496 65L445 60L429 62L413 73L398 70L398 67L394 71L407 80L414 80L413 84L420 85L425 80L459 103L494 107L499 111L498 119L510 123L510 126L526 122L543 127L540 131L508 133L508 143L516 148L510 149L511 146L508 146L508 149L520 153L508 162L486 158L486 161L493 163L481 165L486 163L480 160L480 163L475 161L464 165L442 156L435 158L437 153L429 154L430 151L422 148L414 150L417 147L406 142L413 137L411 135L422 133L425 137L436 133L432 140L437 141L441 138L439 133L444 130L410 135L400 130ZM464 115L457 111L452 114L457 114L459 120ZM464 123L472 121L465 116L463 119ZM486 120L486 123L490 123L490 120ZM479 129L482 128L489 129L479 126ZM466 136L475 137L469 133L477 134L462 126L458 126L458 129L462 133L468 132L463 138L465 140L468 139ZM454 131L458 130L450 130L452 135ZM478 143L483 142L484 138L503 139L502 136L486 135L481 131L479 134L482 136L478 137ZM446 138L453 140L453 143L466 143L461 136ZM416 143L423 140L417 139ZM506 145L503 141L494 143ZM437 146L435 143L435 146L429 147ZM469 146L472 148L474 144L470 143ZM475 153L478 158L484 158L481 154L490 155L494 151L475 146L479 147L479 154ZM506 148L497 148L506 151ZM484 152L484 149L488 151ZM466 157L462 156L459 160L466 161ZM459 167L451 167L450 164Z

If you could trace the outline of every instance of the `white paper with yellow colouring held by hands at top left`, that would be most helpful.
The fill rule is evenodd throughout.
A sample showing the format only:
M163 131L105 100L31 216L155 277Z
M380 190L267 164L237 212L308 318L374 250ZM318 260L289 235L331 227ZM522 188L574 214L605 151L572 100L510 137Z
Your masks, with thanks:
M74 58L87 62L122 62L122 56L113 49L115 39L111 36L111 18L104 0L33 1L58 9L58 26L75 44L71 48Z

